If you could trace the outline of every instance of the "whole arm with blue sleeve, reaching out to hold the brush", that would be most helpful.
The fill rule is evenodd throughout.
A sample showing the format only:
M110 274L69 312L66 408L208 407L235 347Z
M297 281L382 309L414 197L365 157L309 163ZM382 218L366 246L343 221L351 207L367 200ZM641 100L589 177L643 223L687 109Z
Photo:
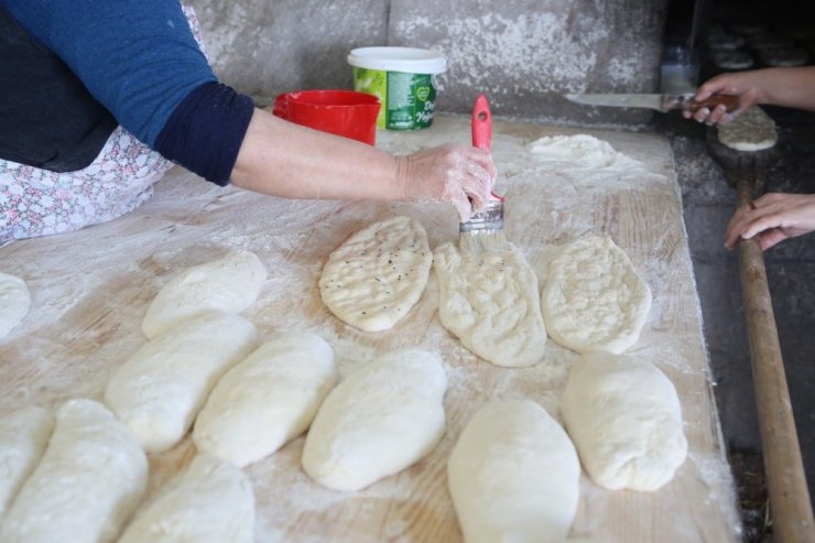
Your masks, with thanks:
M4 3L127 130L209 181L290 198L446 200L461 220L485 205L489 153L394 158L253 108L217 83L177 0Z

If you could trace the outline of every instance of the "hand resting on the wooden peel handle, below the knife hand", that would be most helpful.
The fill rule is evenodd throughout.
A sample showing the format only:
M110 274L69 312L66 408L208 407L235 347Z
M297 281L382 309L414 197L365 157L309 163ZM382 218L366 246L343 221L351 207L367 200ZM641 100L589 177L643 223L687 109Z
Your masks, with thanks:
M761 250L815 230L815 194L770 193L736 210L725 232L725 247L757 237Z

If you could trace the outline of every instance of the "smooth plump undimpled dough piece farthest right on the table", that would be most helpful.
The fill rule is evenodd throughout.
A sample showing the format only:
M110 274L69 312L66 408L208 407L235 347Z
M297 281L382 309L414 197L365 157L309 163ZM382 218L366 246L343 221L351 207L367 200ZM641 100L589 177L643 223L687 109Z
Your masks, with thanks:
M676 389L649 362L585 355L572 368L561 402L583 466L601 487L653 491L685 461Z

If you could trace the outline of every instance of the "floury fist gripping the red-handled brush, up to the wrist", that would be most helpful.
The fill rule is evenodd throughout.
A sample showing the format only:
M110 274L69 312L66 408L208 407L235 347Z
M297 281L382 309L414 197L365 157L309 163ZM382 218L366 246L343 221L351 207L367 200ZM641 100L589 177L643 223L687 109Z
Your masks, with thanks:
M408 202L449 202L461 222L483 210L496 180L490 153L447 144L396 156L399 183Z

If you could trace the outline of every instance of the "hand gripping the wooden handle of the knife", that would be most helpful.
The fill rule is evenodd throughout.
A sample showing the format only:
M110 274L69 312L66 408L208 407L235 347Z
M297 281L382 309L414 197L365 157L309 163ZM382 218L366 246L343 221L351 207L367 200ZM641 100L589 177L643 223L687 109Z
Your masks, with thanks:
M686 119L693 118L694 120L704 122L705 124L727 124L748 108L759 104L762 95L762 86L763 74L759 72L718 75L696 89L694 99L696 101L703 101L708 99L711 95L734 95L739 98L738 107L729 113L725 106L719 105L714 109L702 108L696 111L683 111L683 116Z

